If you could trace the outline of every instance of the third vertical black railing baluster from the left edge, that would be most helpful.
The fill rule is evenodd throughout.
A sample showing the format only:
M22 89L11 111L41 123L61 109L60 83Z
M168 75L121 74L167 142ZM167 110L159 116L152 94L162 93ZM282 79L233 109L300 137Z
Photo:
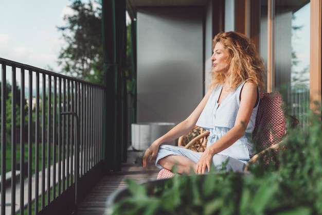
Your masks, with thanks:
M20 214L24 213L25 196L25 68L21 68L20 91Z

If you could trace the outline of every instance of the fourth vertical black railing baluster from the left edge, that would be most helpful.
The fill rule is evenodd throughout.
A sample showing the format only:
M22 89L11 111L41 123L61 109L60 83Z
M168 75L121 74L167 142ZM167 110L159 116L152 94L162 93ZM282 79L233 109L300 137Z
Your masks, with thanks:
M28 94L28 215L31 215L32 194L32 70L29 68Z

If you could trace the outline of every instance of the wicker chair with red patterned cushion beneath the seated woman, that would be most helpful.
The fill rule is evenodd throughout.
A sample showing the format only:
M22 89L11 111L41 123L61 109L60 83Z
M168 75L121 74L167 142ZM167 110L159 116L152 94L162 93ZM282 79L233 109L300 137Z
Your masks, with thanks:
M293 126L298 124L296 118L291 117L291 119ZM270 164L277 165L277 152L286 133L287 115L285 115L285 106L281 94L278 92L261 93L253 132L253 140L259 153L249 159L244 167L244 172L248 171L249 167L255 163L263 167ZM191 132L178 139L178 146L203 152L207 144L207 139L205 139L207 135L209 135L209 131L195 127ZM157 179L174 175L170 170L162 169L159 171Z

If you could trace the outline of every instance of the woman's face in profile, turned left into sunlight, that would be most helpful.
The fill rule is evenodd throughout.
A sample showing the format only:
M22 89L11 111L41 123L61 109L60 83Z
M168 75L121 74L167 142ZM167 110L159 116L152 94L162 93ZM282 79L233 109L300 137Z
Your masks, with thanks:
M228 62L226 62L227 58L228 50L220 42L217 42L211 56L212 71L215 73L226 74L229 68Z

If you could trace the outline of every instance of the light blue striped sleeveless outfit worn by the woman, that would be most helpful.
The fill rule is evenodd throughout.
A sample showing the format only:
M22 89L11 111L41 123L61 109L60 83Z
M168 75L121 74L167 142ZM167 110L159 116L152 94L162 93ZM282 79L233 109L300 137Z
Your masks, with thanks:
M230 94L221 102L220 105L217 103L217 101L223 86L221 85L216 87L211 93L204 110L196 122L197 126L203 127L210 131L207 147L211 146L212 144L216 144L216 141L219 138L221 138L232 127L234 127L240 105L240 93L244 84L245 81L237 87L236 91L230 92ZM245 134L227 149L213 155L212 163L214 170L222 169L223 164L225 164L224 167L226 168L226 171L241 172L243 171L245 163L247 163L249 158L255 154L255 148L252 141L252 132L255 127L258 104L259 102L257 102L255 108L253 109L252 116L247 125ZM201 153L176 146L160 145L155 160L155 166L158 168L163 168L157 162L159 159L169 155L183 155L196 163L198 162Z

